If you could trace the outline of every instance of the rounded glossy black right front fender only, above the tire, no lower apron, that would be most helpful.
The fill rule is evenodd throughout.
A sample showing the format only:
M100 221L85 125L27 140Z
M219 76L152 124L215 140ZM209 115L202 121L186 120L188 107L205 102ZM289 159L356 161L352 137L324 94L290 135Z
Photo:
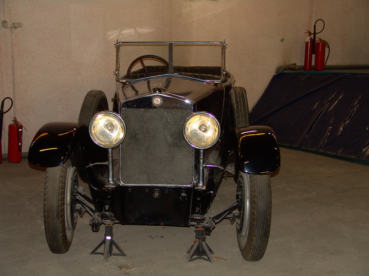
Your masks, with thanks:
M231 153L235 153L235 173L270 174L279 169L280 152L274 131L256 125L233 128L221 147L222 167L227 166Z

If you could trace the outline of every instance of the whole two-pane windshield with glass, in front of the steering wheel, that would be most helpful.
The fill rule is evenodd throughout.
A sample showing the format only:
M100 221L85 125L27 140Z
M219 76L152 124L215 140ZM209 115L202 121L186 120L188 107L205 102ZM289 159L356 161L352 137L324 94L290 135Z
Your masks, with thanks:
M174 75L202 81L224 79L223 42L117 42L118 81Z

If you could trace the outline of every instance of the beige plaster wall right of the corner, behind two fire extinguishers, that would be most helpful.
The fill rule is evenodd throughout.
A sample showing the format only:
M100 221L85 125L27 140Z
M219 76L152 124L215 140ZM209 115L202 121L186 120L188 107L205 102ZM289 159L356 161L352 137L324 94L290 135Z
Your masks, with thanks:
M367 0L179 0L172 7L173 40L226 40L226 68L246 88L250 110L278 66L304 63L304 32L319 18L318 37L332 49L327 64L369 64Z

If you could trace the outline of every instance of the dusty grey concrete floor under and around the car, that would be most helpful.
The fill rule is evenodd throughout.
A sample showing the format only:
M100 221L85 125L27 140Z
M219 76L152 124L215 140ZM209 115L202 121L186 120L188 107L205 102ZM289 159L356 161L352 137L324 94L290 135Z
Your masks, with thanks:
M1 275L368 275L369 167L281 149L282 166L272 176L272 227L259 262L238 250L235 225L218 224L207 238L214 255L186 262L193 228L114 226L127 257L104 262L89 255L103 239L89 216L79 218L66 254L52 254L43 222L44 171L27 160L0 165ZM235 184L223 181L213 212L233 201Z

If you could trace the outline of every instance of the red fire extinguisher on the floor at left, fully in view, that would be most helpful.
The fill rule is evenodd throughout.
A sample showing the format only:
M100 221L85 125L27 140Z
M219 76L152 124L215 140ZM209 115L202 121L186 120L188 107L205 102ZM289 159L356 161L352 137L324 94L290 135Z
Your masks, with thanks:
M14 123L9 125L8 162L19 163L22 160L23 125L14 117Z

